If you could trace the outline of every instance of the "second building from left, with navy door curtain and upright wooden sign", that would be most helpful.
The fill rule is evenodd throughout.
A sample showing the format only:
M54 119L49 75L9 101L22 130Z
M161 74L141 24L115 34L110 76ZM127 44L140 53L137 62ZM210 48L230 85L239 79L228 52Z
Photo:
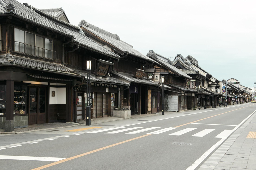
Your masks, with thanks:
M128 87L120 89L120 108L129 108L131 114L138 115L157 112L159 84L152 81L154 71L144 73L145 69L154 64L154 60L135 50L132 45L122 41L116 34L85 20L82 20L79 26L89 38L120 56L120 60L115 62L111 71L113 77L129 83ZM152 74L151 78L146 76L148 73Z

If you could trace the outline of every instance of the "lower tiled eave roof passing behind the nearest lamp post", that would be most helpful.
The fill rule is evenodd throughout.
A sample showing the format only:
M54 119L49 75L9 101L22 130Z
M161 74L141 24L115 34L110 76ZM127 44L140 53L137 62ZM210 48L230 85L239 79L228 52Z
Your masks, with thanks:
M85 70L77 70L77 69L74 69L75 73L79 74L79 75L82 75L82 76L85 76L85 79L87 80L87 71ZM105 82L105 83L114 83L114 84L121 84L121 85L129 85L128 83L126 82L123 82L121 80L118 80L114 77L107 77L107 78L104 78L104 77L97 77L96 75L92 74L91 73L91 81L92 82Z

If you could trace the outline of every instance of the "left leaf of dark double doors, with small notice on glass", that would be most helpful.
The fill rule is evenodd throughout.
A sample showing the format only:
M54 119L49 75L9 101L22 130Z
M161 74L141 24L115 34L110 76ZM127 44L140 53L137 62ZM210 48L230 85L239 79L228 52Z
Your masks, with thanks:
M29 109L28 109L28 124L37 123L37 88L29 88Z

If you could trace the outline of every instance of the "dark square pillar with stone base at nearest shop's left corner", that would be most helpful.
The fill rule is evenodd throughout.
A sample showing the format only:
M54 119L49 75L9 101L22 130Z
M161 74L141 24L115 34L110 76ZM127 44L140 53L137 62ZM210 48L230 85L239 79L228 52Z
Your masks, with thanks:
M13 119L13 96L14 96L14 80L6 80L6 120L5 132L14 131Z

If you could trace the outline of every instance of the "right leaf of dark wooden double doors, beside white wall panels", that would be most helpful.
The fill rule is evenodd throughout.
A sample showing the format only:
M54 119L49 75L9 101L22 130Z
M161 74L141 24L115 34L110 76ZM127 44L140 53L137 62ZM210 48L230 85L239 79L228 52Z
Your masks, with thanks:
M45 87L38 88L38 112L37 124L46 123L46 89Z

